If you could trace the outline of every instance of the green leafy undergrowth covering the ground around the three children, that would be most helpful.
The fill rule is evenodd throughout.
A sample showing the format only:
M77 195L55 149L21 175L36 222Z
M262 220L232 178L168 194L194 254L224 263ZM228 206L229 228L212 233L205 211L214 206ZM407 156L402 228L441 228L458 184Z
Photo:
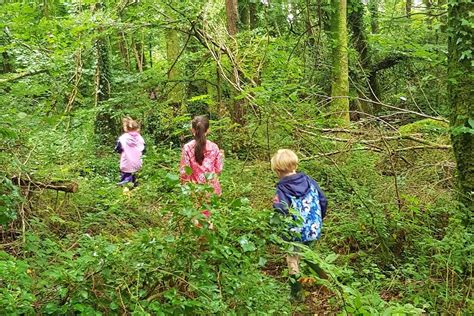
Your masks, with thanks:
M44 122L29 124L38 124L36 136L18 130L2 140L10 151L0 159L11 162L0 201L3 314L472 311L472 233L449 180L441 181L448 156L421 154L410 168L370 151L302 159L301 171L330 201L323 237L304 257L331 278L306 286L305 304L292 304L284 255L294 245L281 240L285 223L271 210L277 179L268 161L228 151L223 197L201 205L208 189L179 183L174 145L150 145L139 187L123 192L117 157L84 133L91 126L72 119L41 133ZM334 147L316 145L301 150L303 158ZM77 181L80 189L20 190L8 180L18 170Z

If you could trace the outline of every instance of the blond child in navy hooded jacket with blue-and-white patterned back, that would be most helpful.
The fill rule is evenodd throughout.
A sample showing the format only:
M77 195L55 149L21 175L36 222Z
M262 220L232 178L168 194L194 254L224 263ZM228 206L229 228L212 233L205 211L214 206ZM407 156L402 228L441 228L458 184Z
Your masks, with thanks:
M272 157L272 170L280 181L276 186L273 207L279 213L293 217L294 225L289 227L293 241L310 244L319 239L328 201L318 183L304 173L297 173L298 156L289 149L280 149ZM290 212L290 208L295 212ZM298 254L287 255L288 270L293 297L301 292L299 281ZM322 278L327 278L319 266L306 262Z

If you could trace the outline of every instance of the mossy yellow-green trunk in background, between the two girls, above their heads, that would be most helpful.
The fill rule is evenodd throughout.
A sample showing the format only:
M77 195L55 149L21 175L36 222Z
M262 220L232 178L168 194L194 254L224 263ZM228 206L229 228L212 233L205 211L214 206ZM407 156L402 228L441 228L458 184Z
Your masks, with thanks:
M168 80L172 86L168 96L171 103L175 106L181 104L185 97L184 83L179 82L182 79L181 65L179 64L179 37L176 30L166 31L166 58L168 59Z

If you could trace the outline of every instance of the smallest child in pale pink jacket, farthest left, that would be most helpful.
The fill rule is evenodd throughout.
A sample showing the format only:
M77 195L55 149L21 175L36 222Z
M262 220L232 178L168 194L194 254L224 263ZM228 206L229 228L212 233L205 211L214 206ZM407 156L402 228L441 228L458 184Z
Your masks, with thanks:
M117 140L115 151L120 154L120 182L118 185L132 183L137 186L136 173L142 167L142 154L145 141L140 135L136 121L129 117L122 119L124 133Z

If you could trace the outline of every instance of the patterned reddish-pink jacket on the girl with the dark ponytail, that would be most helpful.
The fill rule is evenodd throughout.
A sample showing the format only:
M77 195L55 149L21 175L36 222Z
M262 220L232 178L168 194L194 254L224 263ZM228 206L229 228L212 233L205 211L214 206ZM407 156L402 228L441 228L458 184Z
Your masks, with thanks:
M217 175L222 172L224 166L224 159L219 151L219 147L211 141L206 142L206 149L204 150L204 160L202 164L198 164L194 157L194 146L196 141L192 140L184 145L181 152L180 163L180 178L184 182L207 183L206 174L213 174L214 177L209 181L209 184L214 188L214 193L222 194L221 185ZM185 167L189 166L192 170L190 175L186 174Z

